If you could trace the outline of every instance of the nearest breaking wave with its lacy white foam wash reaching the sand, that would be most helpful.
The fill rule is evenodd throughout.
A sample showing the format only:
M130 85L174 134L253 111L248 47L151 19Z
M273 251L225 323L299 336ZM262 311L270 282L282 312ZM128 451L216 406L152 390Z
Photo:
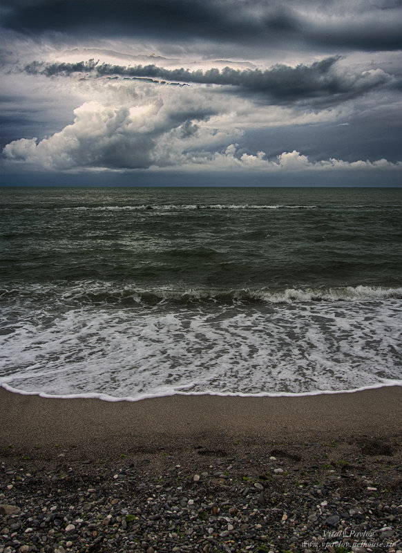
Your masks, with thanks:
M309 395L398 384L402 377L395 290L328 289L331 299L322 301L312 290L229 290L224 304L219 290L101 284L37 285L23 297L10 290L17 297L2 302L0 385L139 400Z

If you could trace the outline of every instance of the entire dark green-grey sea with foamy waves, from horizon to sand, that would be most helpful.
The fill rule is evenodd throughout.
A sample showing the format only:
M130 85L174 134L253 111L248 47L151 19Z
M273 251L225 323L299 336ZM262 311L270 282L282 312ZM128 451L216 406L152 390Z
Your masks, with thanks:
M402 384L402 189L0 189L0 384Z

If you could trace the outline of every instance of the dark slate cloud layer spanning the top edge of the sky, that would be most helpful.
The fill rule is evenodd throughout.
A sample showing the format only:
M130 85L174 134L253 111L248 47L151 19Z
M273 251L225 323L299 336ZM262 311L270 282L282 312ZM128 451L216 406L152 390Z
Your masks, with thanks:
M286 6L277 0L3 0L2 25L32 35L56 31L266 46L294 40L338 49L398 50L401 10L400 2L385 0L355 6L341 0L289 0Z

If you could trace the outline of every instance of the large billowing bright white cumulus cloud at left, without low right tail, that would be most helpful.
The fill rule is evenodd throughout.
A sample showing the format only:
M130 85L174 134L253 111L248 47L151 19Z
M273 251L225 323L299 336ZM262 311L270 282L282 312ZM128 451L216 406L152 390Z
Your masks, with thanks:
M74 110L73 124L49 138L14 140L3 156L45 169L77 167L146 169L180 162L181 151L222 144L241 134L205 125L209 110L193 109L185 102L180 112L164 106L162 97L142 104L85 102ZM196 117L196 119L189 119Z

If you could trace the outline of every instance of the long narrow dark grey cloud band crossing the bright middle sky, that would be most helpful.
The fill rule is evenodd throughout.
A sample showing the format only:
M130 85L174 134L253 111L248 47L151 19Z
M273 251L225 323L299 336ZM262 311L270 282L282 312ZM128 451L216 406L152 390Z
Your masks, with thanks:
M266 71L259 69L239 70L225 67L222 70L211 68L207 71L189 71L188 69L166 69L155 65L117 66L98 64L93 59L88 62L54 63L32 62L24 71L30 74L70 75L88 73L95 77L120 76L124 78L169 79L192 84L214 84L233 87L242 95L258 95L268 102L286 104L309 100L314 104L338 104L350 98L362 95L373 88L392 82L395 77L384 71L365 71L363 73L343 73L335 71L334 65L339 57L329 57L312 65L299 64L296 67L277 64Z

